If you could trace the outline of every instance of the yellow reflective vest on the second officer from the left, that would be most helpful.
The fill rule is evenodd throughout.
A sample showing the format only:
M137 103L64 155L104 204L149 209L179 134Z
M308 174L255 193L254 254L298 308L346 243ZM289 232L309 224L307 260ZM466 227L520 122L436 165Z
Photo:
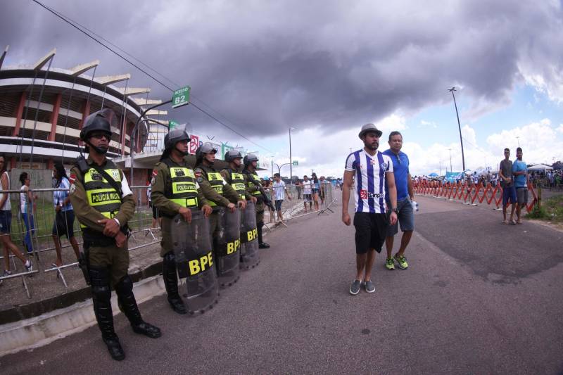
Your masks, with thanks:
M188 167L175 167L168 165L170 180L165 196L170 201L185 208L198 207L198 189L196 187L196 176L194 171Z

